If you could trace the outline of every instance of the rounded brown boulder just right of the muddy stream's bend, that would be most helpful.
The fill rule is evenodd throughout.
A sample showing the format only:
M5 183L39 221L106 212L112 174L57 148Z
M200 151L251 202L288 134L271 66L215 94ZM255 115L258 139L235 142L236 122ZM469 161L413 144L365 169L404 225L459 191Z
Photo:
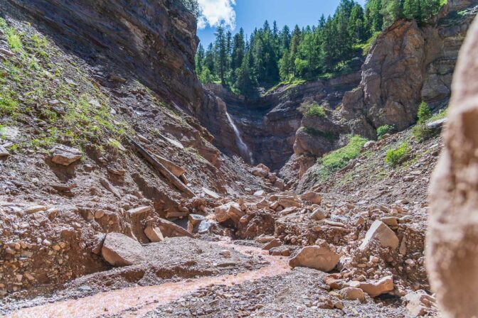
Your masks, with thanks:
M339 263L339 254L324 243L321 246L306 246L296 256L290 259L289 265L295 267L307 267L329 272Z

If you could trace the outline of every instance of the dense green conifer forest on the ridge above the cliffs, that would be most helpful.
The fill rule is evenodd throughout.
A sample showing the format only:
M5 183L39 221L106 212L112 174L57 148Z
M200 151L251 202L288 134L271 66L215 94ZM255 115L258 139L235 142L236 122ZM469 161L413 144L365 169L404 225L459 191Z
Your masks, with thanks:
M187 4L191 11L195 0ZM245 37L241 28L233 35L225 27L216 30L208 48L199 46L196 74L204 83L218 83L233 92L255 92L295 79L327 78L344 72L354 57L366 55L373 41L399 18L427 23L443 0L368 0L362 7L354 0L341 0L332 16L319 18L317 26L280 30L265 21ZM325 76L325 77L324 77Z

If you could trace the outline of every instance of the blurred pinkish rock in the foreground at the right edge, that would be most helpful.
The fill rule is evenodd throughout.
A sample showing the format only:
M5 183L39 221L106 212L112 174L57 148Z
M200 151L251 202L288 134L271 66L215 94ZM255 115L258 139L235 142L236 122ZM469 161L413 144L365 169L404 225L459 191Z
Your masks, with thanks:
M445 317L478 312L478 21L460 53L445 150L430 188L427 269Z

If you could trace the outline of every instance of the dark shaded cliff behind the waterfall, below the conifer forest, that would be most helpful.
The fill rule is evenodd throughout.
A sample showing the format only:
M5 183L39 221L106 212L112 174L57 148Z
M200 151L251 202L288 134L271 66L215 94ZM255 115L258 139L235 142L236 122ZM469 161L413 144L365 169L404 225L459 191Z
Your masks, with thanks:
M300 148L300 152L310 150L317 155L331 149L330 145L302 136L299 128L304 125L299 106L304 102L316 102L335 109L341 103L344 92L356 87L359 81L360 73L356 72L296 87L286 85L258 99L247 99L221 86L208 85L209 98L198 118L215 136L215 146L225 153L238 155L234 132L225 116L225 111L228 111L253 154L253 163L265 163L272 170L278 170L294 154L294 147L296 151ZM320 128L312 121L307 123L309 128ZM339 128L331 121L326 125L343 131L343 127ZM296 142L296 134L299 134L299 143Z

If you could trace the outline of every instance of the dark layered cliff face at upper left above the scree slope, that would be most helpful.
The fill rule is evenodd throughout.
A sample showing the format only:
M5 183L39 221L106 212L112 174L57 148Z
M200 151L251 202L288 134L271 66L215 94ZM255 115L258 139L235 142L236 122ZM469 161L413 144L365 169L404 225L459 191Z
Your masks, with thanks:
M137 78L182 109L202 102L193 73L196 19L181 1L7 0L0 7L46 28L92 65L115 62L116 74Z

